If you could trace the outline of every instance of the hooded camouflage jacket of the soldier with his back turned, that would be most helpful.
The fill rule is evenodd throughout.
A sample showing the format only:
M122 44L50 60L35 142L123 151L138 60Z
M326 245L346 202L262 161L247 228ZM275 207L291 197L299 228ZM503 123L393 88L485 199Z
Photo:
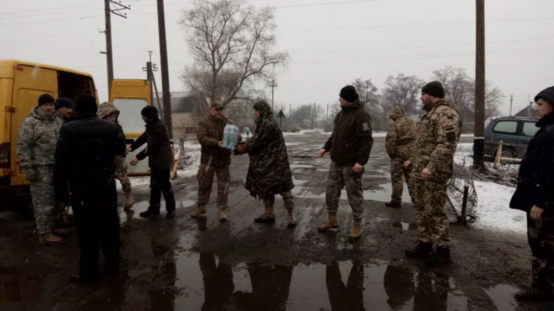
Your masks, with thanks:
M402 107L394 107L389 117L393 123L384 141L387 154L391 158L408 159L416 141L416 122L406 116Z

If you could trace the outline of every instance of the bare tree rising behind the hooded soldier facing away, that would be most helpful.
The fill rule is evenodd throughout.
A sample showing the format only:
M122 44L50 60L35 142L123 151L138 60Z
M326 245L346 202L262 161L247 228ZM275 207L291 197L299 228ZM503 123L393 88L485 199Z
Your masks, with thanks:
M388 76L381 90L383 111L388 113L393 107L401 106L407 113L419 112L419 94L423 83L417 76Z

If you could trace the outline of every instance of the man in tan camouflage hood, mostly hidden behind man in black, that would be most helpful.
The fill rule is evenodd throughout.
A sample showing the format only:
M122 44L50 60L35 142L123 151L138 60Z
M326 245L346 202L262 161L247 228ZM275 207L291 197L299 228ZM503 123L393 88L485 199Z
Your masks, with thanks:
M98 107L98 117L115 122L115 124L119 128L121 135L125 137L123 128L121 127L119 122L117 122L117 118L119 117L119 110L117 109L117 107L115 107L113 103L103 102L100 107ZM131 211L135 201L133 200L132 196L131 181L129 180L129 176L127 176L127 164L125 163L125 157L117 155L115 157L115 162L115 177L121 182L121 188L123 189L123 193L125 194L124 209L126 211Z

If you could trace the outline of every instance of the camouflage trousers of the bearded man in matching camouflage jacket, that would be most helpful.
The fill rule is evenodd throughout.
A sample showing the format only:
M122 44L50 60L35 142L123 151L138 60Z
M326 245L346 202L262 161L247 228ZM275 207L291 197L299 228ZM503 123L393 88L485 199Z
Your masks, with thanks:
M416 174L414 172L414 174ZM422 179L414 176L413 194L416 206L416 220L419 240L437 245L449 246L447 200L448 178Z

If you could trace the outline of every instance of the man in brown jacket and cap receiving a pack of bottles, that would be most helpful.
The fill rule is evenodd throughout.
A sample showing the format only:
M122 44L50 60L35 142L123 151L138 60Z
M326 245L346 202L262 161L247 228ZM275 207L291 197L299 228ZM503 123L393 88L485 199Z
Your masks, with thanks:
M196 137L202 145L198 168L198 208L191 212L191 217L196 218L206 213L206 204L212 193L213 175L216 174L219 221L225 221L229 208L227 201L231 179L231 151L223 148L223 134L225 125L233 125L234 122L223 115L223 106L217 101L212 103L210 113L211 115L198 122Z

